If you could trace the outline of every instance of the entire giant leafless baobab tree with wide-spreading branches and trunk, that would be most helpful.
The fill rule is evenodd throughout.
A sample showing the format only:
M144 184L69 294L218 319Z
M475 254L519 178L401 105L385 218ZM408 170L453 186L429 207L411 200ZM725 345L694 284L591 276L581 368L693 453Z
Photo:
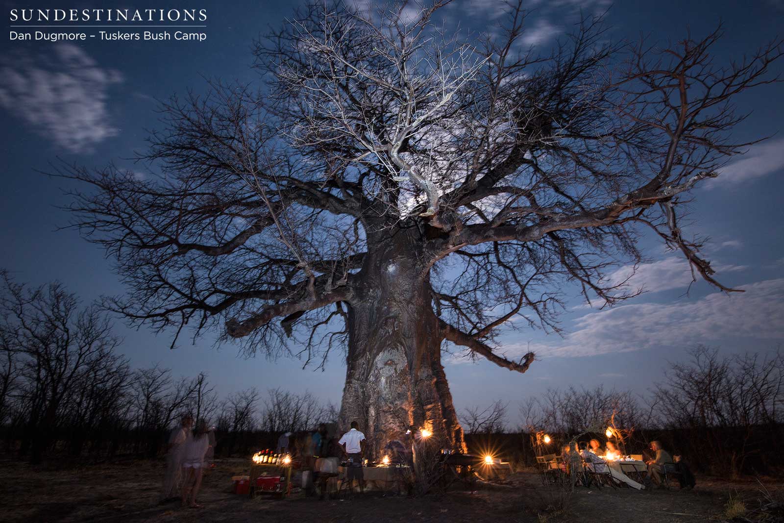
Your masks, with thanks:
M501 329L557 331L565 282L633 296L603 275L641 260L644 230L735 290L678 209L748 145L732 99L781 54L720 67L720 30L659 49L593 19L537 53L521 5L499 36L463 39L437 24L444 3L314 2L256 42L259 85L162 104L140 155L157 178L60 170L92 186L74 226L129 285L107 307L306 365L345 347L340 419L371 452L411 426L464 448L442 346L525 372L534 354L504 354Z

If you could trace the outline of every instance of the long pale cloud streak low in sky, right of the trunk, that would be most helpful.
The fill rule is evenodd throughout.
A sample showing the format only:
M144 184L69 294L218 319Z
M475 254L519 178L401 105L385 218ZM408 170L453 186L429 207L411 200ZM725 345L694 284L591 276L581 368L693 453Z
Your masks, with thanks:
M505 345L508 358L533 350L546 356L593 356L653 347L689 347L732 337L784 338L784 278L743 285L746 292L713 292L700 300L623 305L578 318L574 330L547 343Z

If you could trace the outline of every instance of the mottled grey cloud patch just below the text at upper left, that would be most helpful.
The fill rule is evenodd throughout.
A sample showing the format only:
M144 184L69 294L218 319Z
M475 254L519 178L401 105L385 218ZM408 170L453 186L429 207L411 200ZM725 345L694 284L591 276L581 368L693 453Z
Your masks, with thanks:
M107 110L118 71L96 64L80 47L52 46L52 56L15 56L0 67L0 107L67 151L89 151L115 136Z

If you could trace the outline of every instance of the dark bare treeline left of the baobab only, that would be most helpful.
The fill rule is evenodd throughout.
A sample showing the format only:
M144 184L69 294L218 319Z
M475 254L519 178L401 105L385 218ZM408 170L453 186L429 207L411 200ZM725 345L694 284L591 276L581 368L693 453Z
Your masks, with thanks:
M204 373L132 370L102 311L81 307L59 283L29 289L0 277L0 438L33 463L48 453L158 456L184 413L213 424L224 453L336 418L308 392L249 388L219 398Z

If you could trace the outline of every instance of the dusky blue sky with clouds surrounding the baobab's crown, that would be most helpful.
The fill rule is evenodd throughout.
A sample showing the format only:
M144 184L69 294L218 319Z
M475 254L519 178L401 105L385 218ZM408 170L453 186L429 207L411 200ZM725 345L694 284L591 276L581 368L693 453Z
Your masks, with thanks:
M62 189L67 183L37 173L62 158L82 165L114 161L147 176L141 165L124 158L144 148L145 129L159 127L155 99L186 89L199 91L205 77L255 81L252 39L278 26L291 2L168 2L166 7L208 9L205 42L96 42L53 44L0 39L0 165L3 191L0 267L18 281L63 281L85 301L122 293L112 262L75 231L56 231L68 222ZM4 2L3 13L27 8ZM42 8L92 9L139 7L132 2L56 2ZM584 13L608 9L608 38L646 35L662 44L699 37L724 21L726 35L715 48L717 60L740 58L774 38L784 27L782 2L606 2L556 0L531 2L524 40L550 45ZM493 31L503 2L453 2L444 11L447 24L463 31ZM8 31L8 29L6 29ZM776 71L782 71L782 65ZM633 285L648 292L614 307L587 307L574 293L564 314L564 337L522 331L503 336L510 356L533 349L539 361L524 375L485 361L450 359L447 376L458 409L486 405L497 398L517 403L546 387L572 384L632 388L644 392L661 379L666 361L684 358L684 350L706 343L724 351L775 350L784 340L784 87L767 85L737 100L752 111L736 129L738 141L770 140L735 158L717 180L699 187L690 206L687 233L710 237L707 252L720 281L745 293L726 296L704 282L691 285L688 265L644 238L648 262L638 267ZM616 278L621 278L622 268ZM689 291L687 293L687 290ZM204 370L221 392L245 387L311 390L338 402L344 366L339 354L324 372L302 370L287 359L245 360L236 347L220 350L211 336L195 345L169 350L169 336L142 328L127 329L123 351L133 365L160 363L176 374ZM513 420L515 416L512 416Z

